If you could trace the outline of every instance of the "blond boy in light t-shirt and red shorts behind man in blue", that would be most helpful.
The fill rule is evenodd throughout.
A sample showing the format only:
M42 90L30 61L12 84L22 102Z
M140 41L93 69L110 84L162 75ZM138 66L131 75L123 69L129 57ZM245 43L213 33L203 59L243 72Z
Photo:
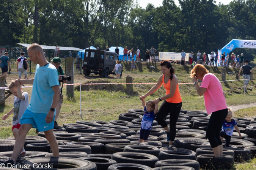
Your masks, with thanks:
M20 87L20 84L16 86L14 81L12 81L9 84L8 88L14 96L14 102L13 102L14 107L2 118L3 120L6 120L8 116L13 114L13 136L15 139L17 139L19 128L20 128L20 118L24 114L29 104L28 93L23 92L22 88ZM25 149L22 148L22 150L19 153L19 156L25 156L25 155L26 155Z

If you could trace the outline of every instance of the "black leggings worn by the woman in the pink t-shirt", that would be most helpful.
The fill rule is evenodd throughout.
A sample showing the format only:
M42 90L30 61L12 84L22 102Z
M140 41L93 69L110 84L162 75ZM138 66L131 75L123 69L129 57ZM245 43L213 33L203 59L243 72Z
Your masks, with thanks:
M212 148L222 145L220 131L224 119L228 115L228 109L218 110L212 113L207 126L206 137L209 139Z

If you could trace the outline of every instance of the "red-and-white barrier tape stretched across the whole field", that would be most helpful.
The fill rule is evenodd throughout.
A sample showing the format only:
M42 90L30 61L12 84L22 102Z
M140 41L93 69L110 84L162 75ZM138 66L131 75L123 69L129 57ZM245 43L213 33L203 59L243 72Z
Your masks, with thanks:
M244 79L240 79L240 80L244 80ZM239 80L226 80L226 81L220 81L220 82L230 82L230 81L239 81ZM250 81L256 81L256 80L250 80ZM63 85L68 86L68 85L107 85L107 84L156 84L156 83L86 83L86 84L73 83L73 84L63 84ZM193 83L179 83L179 84L193 84ZM28 87L33 87L33 86L23 86L22 88L28 88ZM0 87L0 89L8 89L8 87Z

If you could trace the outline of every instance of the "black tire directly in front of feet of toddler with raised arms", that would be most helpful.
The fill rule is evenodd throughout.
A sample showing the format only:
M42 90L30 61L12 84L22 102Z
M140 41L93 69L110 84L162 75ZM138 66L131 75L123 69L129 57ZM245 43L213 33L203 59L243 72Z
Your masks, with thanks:
M147 153L150 155L154 155L158 158L159 156L159 148L151 146L151 145L127 145L124 147L124 152L137 152L137 153Z

